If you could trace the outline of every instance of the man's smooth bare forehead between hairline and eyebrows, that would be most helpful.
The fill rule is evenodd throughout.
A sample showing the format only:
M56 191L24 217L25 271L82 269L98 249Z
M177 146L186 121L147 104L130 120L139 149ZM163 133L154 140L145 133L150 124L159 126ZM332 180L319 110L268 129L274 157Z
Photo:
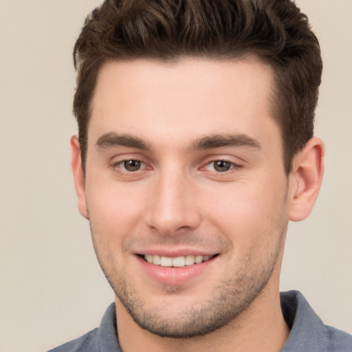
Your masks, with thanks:
M157 144L213 133L267 134L269 125L278 128L270 113L272 81L271 68L255 58L111 61L98 74L88 136L133 133Z

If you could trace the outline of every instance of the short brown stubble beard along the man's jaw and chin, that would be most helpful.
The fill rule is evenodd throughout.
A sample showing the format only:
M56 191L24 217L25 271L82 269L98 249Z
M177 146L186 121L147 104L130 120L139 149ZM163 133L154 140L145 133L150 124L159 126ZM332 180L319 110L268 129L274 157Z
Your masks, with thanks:
M166 338L194 338L204 336L220 329L235 320L243 311L249 309L252 302L261 295L267 286L278 259L281 259L287 222L283 217L276 219L272 235L277 241L270 255L265 261L260 261L261 253L252 250L237 266L234 276L219 282L213 289L213 295L203 303L195 304L191 308L177 307L172 315L167 313L168 307L151 307L143 300L143 294L131 285L127 275L119 268L111 270L109 263L103 260L99 235L91 228L92 238L100 267L107 277L113 292L122 305L129 312L138 326L150 333ZM268 234L264 235L268 236ZM263 248L262 248L263 250ZM258 259L259 257L259 259ZM173 287L168 294L177 294L177 287ZM181 290L181 288L180 288Z

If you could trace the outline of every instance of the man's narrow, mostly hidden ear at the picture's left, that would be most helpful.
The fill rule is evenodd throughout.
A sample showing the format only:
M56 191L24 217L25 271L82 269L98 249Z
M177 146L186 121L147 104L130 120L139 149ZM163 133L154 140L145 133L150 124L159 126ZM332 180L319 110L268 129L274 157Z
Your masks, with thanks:
M88 219L87 201L85 199L85 177L82 169L82 159L80 157L80 142L78 137L73 135L71 137L71 166L74 174L74 186L78 198L78 210L83 217Z

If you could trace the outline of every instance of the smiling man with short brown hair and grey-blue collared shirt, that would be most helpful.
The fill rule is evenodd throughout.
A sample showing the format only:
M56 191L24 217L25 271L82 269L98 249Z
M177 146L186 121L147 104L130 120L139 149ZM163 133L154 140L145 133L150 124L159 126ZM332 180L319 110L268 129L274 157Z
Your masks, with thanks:
M279 294L322 181L322 62L292 1L105 1L74 49L78 208L115 293L53 351L351 351Z

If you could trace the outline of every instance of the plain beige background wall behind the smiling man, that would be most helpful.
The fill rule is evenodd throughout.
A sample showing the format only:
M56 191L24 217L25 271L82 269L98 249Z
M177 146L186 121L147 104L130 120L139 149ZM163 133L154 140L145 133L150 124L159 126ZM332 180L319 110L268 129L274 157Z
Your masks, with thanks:
M316 208L289 228L282 289L352 333L352 1L300 0L325 74ZM98 0L0 0L0 352L46 351L98 326L113 294L76 210L72 47Z

